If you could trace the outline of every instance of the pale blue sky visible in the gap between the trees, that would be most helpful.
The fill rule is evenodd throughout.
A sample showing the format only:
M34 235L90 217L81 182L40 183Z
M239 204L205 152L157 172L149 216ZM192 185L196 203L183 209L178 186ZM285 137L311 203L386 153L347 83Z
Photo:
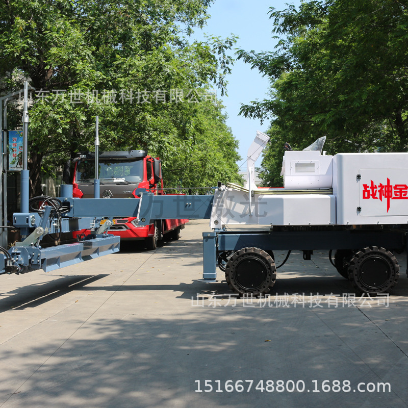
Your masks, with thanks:
M272 20L269 19L270 7L276 10L284 10L287 4L300 4L296 1L282 0L215 0L209 9L211 18L203 32L221 36L223 38L235 34L239 36L236 47L256 52L273 50L277 40L272 39ZM200 32L196 31L194 37L200 38ZM225 105L228 115L227 124L233 130L234 136L239 140L239 153L242 160L242 169L246 168L246 153L249 145L255 137L257 130L265 132L269 123L262 125L259 120L246 119L238 116L241 104L249 104L251 100L262 100L267 97L269 81L262 78L257 69L250 69L249 64L236 61L232 67L231 75L228 75L228 96L220 95L218 99ZM258 159L259 166L261 159Z

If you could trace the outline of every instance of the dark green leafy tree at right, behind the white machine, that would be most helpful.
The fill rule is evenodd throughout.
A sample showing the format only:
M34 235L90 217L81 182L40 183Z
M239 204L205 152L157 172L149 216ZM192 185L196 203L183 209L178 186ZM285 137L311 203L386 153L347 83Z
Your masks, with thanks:
M313 0L299 10L271 9L270 17L282 37L276 50L240 50L238 58L271 79L271 98L243 106L242 114L270 118L279 146L303 148L326 135L332 154L406 151L408 8L402 2ZM272 183L277 169L266 166Z

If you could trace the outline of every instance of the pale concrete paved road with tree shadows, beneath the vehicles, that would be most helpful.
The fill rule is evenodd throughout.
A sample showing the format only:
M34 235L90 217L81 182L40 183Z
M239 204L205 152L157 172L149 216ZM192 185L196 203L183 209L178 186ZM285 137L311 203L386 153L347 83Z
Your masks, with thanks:
M0 276L0 406L408 406L405 258L389 299L354 299L323 252L295 252L268 299L237 299L197 281L206 230L190 221L155 252Z

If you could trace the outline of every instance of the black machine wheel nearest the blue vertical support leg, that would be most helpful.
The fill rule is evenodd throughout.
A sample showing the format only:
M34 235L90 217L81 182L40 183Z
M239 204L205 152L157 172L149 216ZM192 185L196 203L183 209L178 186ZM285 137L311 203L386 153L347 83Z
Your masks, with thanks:
M275 263L262 249L243 248L228 259L225 279L230 289L240 296L267 294L276 280Z

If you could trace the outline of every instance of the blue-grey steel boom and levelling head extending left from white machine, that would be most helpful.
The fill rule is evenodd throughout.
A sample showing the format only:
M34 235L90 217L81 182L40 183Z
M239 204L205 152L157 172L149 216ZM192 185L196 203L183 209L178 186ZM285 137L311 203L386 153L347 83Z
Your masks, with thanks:
M59 200L66 212L62 215L60 232L78 231L91 226L96 230L101 220L114 216L137 216L140 225L148 225L156 219L210 218L214 198L212 195L155 196L140 190L140 199L80 199L72 198L72 186L62 187L65 196L59 197ZM13 224L24 231L41 227L43 230L48 228L48 233L54 233L59 228L50 223L50 211L50 207L45 207L43 214L15 213ZM12 247L9 249L12 262L5 256L0 257L0 274L10 273L12 265L18 265L20 271L43 269L47 272L119 250L120 237L101 234L87 238L90 239L45 249L35 245Z

